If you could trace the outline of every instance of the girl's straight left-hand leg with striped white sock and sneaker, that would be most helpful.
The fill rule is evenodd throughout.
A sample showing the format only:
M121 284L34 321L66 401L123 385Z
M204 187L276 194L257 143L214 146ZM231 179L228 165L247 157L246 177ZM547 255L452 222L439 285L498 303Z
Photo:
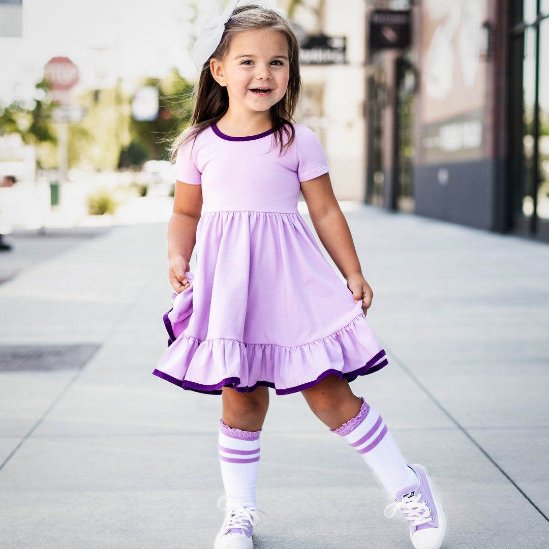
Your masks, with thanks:
M257 523L255 487L259 470L259 434L269 405L266 387L238 393L224 387L219 459L225 486L225 522L215 549L251 549Z

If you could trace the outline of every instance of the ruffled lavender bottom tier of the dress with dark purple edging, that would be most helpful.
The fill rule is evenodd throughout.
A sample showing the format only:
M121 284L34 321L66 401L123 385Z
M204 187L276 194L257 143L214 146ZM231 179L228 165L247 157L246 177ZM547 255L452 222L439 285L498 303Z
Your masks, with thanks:
M153 374L183 389L214 395L225 386L239 393L266 386L287 395L327 376L352 381L388 363L363 315L334 334L293 347L200 341L185 333L171 343Z

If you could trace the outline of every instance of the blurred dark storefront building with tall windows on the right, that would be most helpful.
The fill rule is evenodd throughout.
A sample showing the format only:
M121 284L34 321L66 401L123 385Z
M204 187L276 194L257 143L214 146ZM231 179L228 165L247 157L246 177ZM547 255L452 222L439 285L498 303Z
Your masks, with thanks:
M366 18L366 201L549 241L549 0Z

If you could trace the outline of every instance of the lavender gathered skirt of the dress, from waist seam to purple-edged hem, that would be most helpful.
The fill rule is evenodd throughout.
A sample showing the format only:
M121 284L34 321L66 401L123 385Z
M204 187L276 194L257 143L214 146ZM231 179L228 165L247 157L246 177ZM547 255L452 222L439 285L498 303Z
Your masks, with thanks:
M387 363L297 212L205 212L188 278L164 316L169 347L153 372L183 389L284 395Z

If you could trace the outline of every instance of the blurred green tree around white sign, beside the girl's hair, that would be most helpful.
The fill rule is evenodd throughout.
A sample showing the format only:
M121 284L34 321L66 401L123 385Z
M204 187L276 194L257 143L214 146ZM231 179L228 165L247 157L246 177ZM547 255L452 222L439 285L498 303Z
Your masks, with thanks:
M171 142L191 121L193 111L192 82L181 77L176 69L161 80L147 79L145 86L154 86L159 92L159 115L156 120L138 121L131 119L130 135L133 151L139 147L147 152L143 160L166 160L169 156ZM132 151L122 151L121 166L124 166L124 155L130 156ZM127 167L127 165L125 166Z

